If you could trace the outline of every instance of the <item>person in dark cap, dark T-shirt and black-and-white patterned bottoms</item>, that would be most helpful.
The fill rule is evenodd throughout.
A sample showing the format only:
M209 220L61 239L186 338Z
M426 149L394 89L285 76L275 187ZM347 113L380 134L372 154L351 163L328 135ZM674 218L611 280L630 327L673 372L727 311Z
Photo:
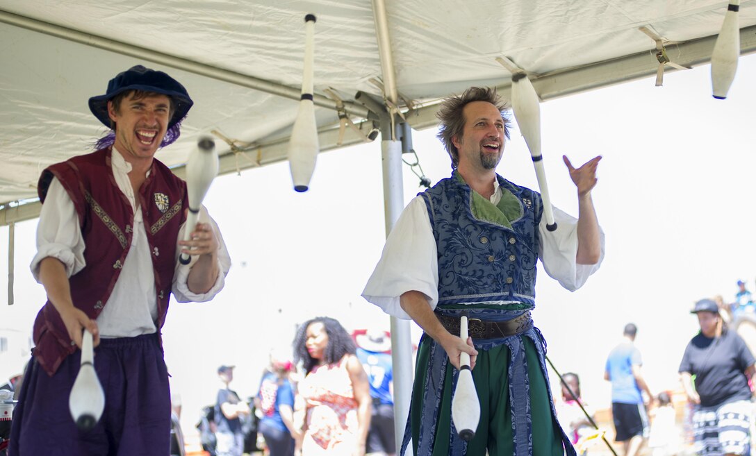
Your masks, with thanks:
M696 453L748 454L752 408L748 379L756 373L754 356L735 331L723 327L713 300L699 300L691 313L698 316L701 332L686 347L679 371L695 404ZM727 433L722 432L725 427Z

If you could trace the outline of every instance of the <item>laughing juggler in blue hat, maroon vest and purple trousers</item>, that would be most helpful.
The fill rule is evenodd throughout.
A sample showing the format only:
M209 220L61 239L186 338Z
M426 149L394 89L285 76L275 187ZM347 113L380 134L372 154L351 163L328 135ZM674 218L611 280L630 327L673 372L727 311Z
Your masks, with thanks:
M192 106L165 72L134 66L89 100L111 129L98 150L51 165L39 179L42 212L32 273L47 292L34 323L11 454L169 454L171 400L160 328L170 294L212 299L230 259L206 210L184 226L186 183L156 160ZM184 230L191 240L182 241ZM191 249L191 252L190 252ZM194 255L186 266L181 252ZM104 388L98 424L81 431L68 398L82 331L95 337Z

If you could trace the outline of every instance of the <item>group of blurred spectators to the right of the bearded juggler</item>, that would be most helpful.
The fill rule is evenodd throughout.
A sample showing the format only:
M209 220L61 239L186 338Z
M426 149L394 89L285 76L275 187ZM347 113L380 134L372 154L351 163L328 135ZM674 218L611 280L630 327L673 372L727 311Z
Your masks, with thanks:
M634 344L637 326L625 325L623 339L610 351L604 373L612 384L615 442L624 456L640 454L644 445L654 456L683 454L689 447L704 456L750 454L756 359L739 332L756 328L756 305L745 282L739 280L737 285L732 303L717 296L697 301L690 310L699 332L687 344L678 368L679 390L686 398L679 407L679 425L672 393L654 395L643 376L643 358ZM748 342L756 343L750 337L756 333L745 334ZM584 451L591 439L596 442L593 412L581 403L577 374L562 376L557 411L578 450Z

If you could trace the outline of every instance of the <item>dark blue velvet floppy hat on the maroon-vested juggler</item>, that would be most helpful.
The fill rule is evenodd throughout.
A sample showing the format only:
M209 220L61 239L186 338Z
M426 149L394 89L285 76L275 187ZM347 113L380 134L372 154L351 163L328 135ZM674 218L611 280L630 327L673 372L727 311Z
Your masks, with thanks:
M186 117L194 101L191 100L187 89L178 81L162 71L132 66L124 72L118 73L107 83L107 92L99 97L89 99L89 109L107 128L110 128L110 116L107 115L107 102L124 91L147 91L171 97L173 101L173 117L168 122L168 128Z

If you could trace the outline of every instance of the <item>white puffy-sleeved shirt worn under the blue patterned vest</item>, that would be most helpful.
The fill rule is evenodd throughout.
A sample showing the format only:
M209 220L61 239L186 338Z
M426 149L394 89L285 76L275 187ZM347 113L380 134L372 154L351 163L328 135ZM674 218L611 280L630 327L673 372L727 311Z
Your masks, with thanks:
M500 199L496 189L492 202ZM588 276L599 269L604 258L604 233L601 231L601 257L596 264L578 264L578 220L554 208L556 231L546 229L546 219L538 226L541 244L538 258L546 273L569 291L580 288ZM400 319L411 319L399 304L407 291L426 295L431 309L438 304L438 254L422 196L416 196L401 213L386 239L380 261L362 291L362 297Z

